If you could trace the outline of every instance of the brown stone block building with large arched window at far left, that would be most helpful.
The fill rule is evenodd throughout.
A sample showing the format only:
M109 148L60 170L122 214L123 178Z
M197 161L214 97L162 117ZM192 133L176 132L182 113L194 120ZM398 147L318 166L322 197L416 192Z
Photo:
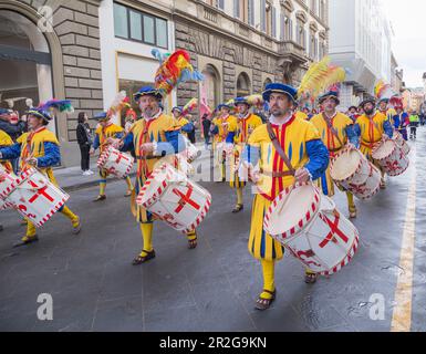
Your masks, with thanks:
M71 100L75 112L61 114L50 126L61 142L65 166L79 162L79 112L92 116L103 110L98 6L96 0L0 0L6 23L0 74L15 73L0 87L0 104L9 100L22 114L27 107L20 98L30 97L33 105L51 97Z

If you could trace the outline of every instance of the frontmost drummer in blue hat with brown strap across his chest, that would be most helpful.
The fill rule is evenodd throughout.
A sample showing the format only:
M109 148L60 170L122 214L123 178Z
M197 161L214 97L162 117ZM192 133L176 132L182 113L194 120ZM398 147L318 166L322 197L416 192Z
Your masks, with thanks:
M240 167L240 176L248 169L258 189L248 243L249 252L262 266L263 291L256 303L258 310L267 310L276 299L274 264L283 258L283 247L263 228L264 215L282 190L294 183L320 178L329 166L329 150L318 129L293 114L297 94L295 88L284 84L267 85L263 98L270 105L270 122L251 134ZM260 167L258 171L253 166ZM316 274L306 269L305 281L315 280Z

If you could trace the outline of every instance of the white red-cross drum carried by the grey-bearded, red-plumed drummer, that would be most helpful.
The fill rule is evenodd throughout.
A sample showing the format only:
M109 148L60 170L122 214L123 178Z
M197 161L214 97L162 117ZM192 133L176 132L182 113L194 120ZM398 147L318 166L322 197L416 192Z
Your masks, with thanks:
M211 196L185 174L162 163L145 181L136 204L175 230L187 233L205 219L210 209Z

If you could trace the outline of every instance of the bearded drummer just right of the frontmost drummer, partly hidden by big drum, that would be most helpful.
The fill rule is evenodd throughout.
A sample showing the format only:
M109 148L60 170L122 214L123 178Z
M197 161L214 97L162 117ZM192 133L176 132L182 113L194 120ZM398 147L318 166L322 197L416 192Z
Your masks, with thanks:
M319 98L319 103L323 106L324 112L314 116L311 123L320 133L321 139L330 152L330 158L335 157L347 143L356 145L359 137L355 135L353 121L343 113L336 111L340 105L339 93L330 91ZM325 196L334 196L334 181L330 176L330 166L326 171L318 180L318 185ZM354 196L346 191L347 207L351 218L356 218L356 207Z

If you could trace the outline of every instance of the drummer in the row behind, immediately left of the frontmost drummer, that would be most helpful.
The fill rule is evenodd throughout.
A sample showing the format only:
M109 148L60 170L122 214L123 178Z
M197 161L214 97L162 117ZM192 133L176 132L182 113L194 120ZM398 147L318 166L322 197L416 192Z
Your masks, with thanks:
M262 119L257 116L256 114L250 113L250 104L247 100L247 97L237 97L235 100L235 105L238 111L238 124L237 124L237 132L230 133L229 138L235 142L233 152L231 155L231 162L230 162L230 181L229 185L232 189L236 189L237 192L237 205L233 208L232 212L237 214L240 212L243 209L243 201L242 201L242 190L246 186L246 181L241 180L238 176L238 164L240 160L240 156L243 152L243 148L251 135L251 133L260 125L262 125Z

